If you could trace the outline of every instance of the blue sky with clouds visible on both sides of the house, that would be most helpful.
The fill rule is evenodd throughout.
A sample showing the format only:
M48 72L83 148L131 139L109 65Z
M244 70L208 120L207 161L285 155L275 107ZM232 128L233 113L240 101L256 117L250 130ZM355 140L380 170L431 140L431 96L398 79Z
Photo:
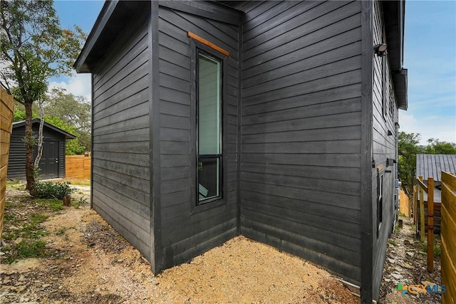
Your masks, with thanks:
M104 1L54 2L63 28L86 31ZM408 110L399 111L400 131L456 142L456 1L408 0L405 4L404 68L408 68ZM55 78L51 87L66 88L90 99L90 76Z

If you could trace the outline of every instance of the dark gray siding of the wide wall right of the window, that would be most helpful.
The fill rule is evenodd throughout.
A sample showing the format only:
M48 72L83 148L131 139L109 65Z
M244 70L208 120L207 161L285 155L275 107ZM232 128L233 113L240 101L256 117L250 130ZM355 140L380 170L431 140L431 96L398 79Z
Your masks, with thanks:
M241 233L360 285L361 3L239 9Z

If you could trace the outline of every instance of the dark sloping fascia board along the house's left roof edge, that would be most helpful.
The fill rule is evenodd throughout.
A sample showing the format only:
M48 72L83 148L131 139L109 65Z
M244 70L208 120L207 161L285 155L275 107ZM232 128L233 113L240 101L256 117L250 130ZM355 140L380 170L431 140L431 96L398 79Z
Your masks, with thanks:
M103 9L97 18L97 21L95 21L95 25L93 26L92 31L90 31L88 35L87 41L84 44L81 53L79 54L78 58L76 59L76 62L73 65L73 67L76 68L76 72L88 73L88 70L83 69L83 65L86 62L86 59L88 58L90 52L92 51L93 46L95 46L95 43L98 41L98 38L100 38L100 34L103 32L103 29L108 23L118 3L118 0L105 2Z

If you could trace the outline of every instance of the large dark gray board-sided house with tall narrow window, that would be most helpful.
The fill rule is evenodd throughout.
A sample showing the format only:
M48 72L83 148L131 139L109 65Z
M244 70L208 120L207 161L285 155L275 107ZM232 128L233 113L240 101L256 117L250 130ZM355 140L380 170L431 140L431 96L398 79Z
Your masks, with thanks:
M395 219L404 1L108 1L93 209L152 271L243 234L378 298ZM386 50L385 50L386 48Z

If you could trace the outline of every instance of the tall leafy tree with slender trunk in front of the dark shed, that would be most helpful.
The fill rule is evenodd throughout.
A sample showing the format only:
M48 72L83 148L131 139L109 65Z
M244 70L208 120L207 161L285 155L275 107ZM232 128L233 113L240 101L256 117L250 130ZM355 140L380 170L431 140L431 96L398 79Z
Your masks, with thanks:
M35 196L32 105L43 100L49 78L69 74L85 35L80 28L62 30L52 0L0 1L0 69L2 83L26 112L26 189Z

